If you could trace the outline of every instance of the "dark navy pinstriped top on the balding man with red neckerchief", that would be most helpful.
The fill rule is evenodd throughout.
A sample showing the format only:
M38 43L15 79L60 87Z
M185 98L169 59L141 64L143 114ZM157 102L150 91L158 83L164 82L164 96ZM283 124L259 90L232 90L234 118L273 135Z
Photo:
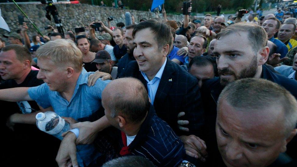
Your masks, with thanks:
M119 144L124 147L121 138ZM129 145L129 151L129 155L143 156L156 166L178 166L185 155L183 142L165 121L157 117L152 105Z

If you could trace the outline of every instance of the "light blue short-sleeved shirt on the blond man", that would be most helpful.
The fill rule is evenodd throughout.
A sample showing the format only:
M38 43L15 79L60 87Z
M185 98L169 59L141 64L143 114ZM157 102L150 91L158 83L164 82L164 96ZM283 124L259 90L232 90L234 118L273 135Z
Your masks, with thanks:
M94 86L88 87L88 76L93 73L82 69L69 102L59 92L51 91L46 83L29 88L28 94L41 107L52 106L54 112L61 117L72 117L78 121L91 121L92 116L101 107L103 89L110 82L110 80L97 80ZM78 145L76 148L79 166L89 165L101 155L95 150L93 144Z

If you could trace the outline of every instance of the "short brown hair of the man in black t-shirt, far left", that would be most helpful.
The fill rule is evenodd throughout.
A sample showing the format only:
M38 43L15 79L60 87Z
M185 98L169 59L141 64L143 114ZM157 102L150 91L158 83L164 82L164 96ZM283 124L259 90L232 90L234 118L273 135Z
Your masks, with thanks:
M14 50L16 52L16 58L19 61L29 60L30 63L32 62L32 56L26 47L19 44L10 44L10 45L7 45L6 47L3 47L1 51L6 52L9 50Z

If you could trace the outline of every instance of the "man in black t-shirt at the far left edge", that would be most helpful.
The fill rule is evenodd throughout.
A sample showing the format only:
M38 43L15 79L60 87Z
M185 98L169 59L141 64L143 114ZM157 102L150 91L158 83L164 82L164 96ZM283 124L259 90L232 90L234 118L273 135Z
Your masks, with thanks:
M0 84L0 89L34 87L43 84L42 80L37 79L38 71L31 70L31 62L29 50L21 45L12 44L2 48L0 75L5 81ZM4 137L4 152L7 154L4 164L37 166L47 160L47 165L55 165L55 155L60 141L38 130L35 125L37 111L44 109L40 108L35 101L17 103L0 101L0 106L9 109L2 113L1 117L5 136L9 136ZM43 145L45 151L36 154L40 145ZM15 159L17 161L14 161Z

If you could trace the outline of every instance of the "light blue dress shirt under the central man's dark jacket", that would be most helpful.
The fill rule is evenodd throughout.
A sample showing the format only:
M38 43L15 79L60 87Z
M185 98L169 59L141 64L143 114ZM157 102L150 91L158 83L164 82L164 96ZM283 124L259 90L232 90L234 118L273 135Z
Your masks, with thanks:
M157 72L157 74L155 75L155 77L149 81L148 77L146 76L146 74L142 71L141 74L143 76L143 78L145 78L146 82L147 82L147 86L148 86L148 92L149 92L149 98L151 99L151 103L154 104L154 99L156 96L156 92L165 68L167 62L167 58L165 59L164 64L162 65L162 67L159 69L159 71Z

